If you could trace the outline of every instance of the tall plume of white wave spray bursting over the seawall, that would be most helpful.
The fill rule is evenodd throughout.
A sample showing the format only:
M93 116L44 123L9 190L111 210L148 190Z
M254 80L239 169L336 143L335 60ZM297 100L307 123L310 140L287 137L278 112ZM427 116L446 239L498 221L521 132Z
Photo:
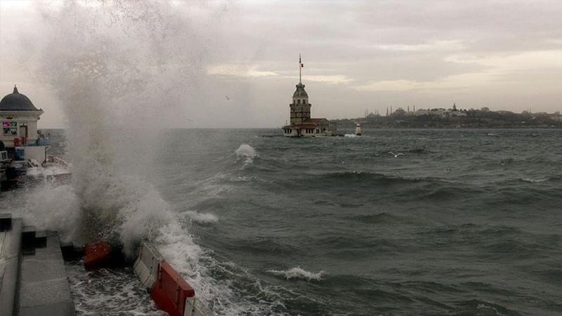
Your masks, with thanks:
M142 238L151 239L219 315L263 313L211 276L216 261L150 182L159 131L200 98L194 91L211 59L190 13L168 1L37 6L42 31L27 37L40 47L32 57L39 84L56 91L67 121L73 179L65 192L81 219L72 239L106 239L131 257Z

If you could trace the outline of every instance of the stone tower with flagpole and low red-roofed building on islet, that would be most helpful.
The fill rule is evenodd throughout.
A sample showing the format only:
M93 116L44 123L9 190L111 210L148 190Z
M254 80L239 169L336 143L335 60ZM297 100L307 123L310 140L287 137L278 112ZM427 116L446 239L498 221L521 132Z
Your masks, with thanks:
M293 93L293 102L289 104L291 124L283 126L283 134L290 137L301 136L336 136L335 122L325 118L312 118L312 104L308 102L308 93L304 90L302 82L303 63L299 56L299 84Z

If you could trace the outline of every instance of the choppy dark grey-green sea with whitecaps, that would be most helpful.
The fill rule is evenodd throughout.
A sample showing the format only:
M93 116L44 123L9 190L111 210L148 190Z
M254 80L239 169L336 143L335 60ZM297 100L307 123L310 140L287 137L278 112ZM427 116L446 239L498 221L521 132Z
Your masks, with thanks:
M363 132L162 131L148 176L102 198L140 192L121 240L154 231L217 315L562 313L562 131ZM77 241L69 225L93 225L77 190L2 199ZM67 270L81 315L158 315L131 270Z

